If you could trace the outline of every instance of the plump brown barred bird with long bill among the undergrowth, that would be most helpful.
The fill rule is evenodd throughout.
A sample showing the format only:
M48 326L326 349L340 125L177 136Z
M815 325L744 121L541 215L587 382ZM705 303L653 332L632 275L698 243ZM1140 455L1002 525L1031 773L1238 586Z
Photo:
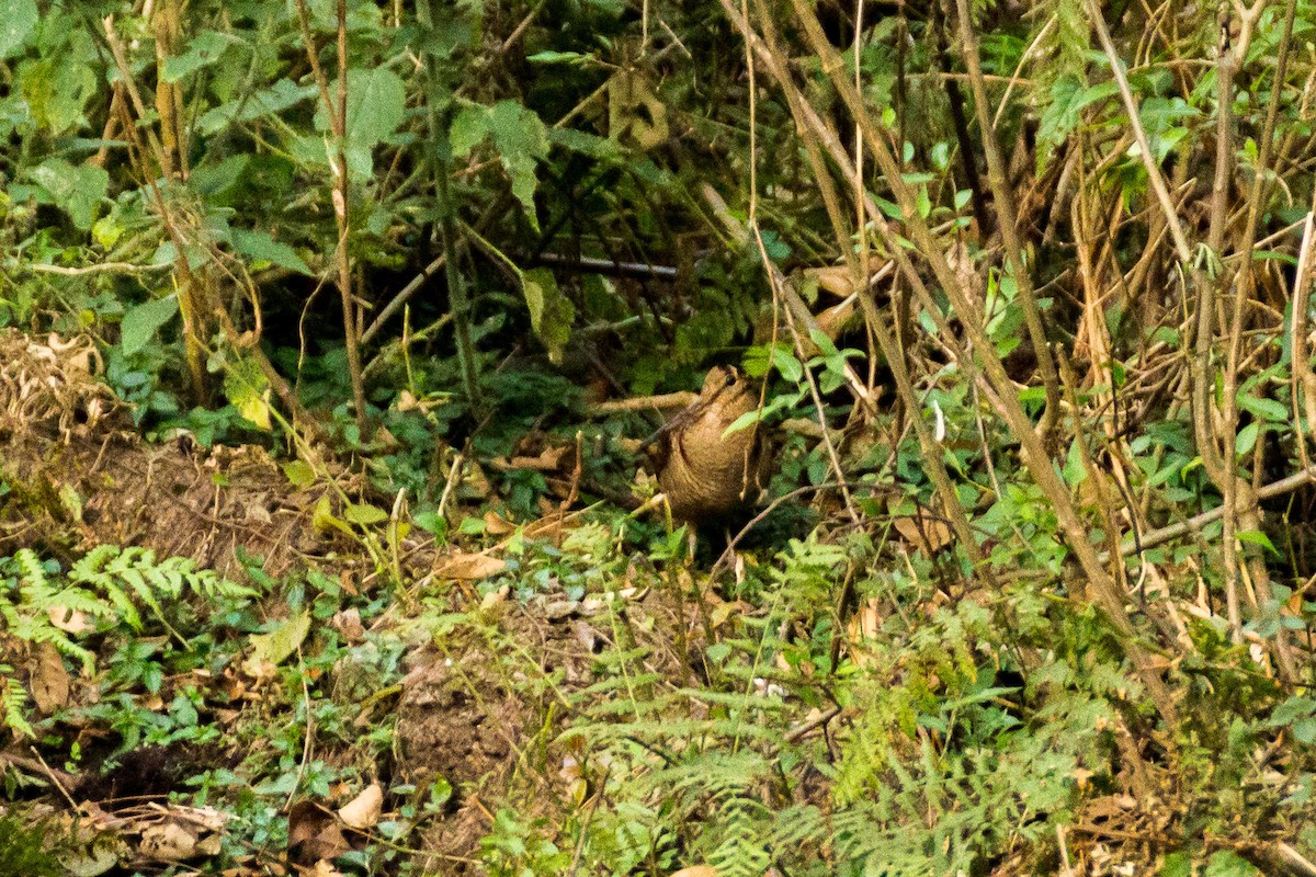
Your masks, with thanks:
M694 525L726 518L753 505L767 483L767 454L758 423L725 435L758 408L758 391L730 366L704 377L699 400L654 437L651 460L674 518Z

